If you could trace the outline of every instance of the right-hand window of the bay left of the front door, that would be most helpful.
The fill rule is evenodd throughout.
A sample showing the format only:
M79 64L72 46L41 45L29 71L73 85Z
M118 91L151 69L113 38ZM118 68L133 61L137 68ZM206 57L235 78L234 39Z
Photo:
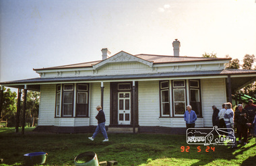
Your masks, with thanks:
M88 84L77 84L75 116L88 117Z

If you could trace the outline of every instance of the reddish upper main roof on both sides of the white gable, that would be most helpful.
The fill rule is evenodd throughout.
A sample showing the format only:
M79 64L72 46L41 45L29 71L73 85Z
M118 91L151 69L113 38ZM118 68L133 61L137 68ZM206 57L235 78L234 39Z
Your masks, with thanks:
M114 55L113 55L114 56ZM156 63L183 63L183 62L197 62L197 61L210 61L210 60L230 60L231 58L203 58L203 57L192 57L192 56L168 56L168 55L154 55L154 54L137 54L133 55L143 60L148 60L150 62ZM100 63L102 60L96 60L87 63L77 63L71 65L63 65L59 67L48 67L42 69L34 69L34 71L41 70L52 70L52 69L73 69L73 68L84 68L92 67Z

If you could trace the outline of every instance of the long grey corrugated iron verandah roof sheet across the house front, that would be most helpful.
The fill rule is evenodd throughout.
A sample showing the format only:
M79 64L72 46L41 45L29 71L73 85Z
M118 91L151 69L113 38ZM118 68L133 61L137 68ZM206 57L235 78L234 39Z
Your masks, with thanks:
M212 76L212 75L244 75L256 74L255 70L240 70L240 69L224 69L218 71L183 71L169 73L146 73L135 75L96 75L82 77L54 77L54 78L34 78L23 79L18 81L7 81L0 83L1 85L26 84L26 83L53 83L67 81L104 81L117 79L154 79L154 78L170 78L170 77L197 77L197 76Z

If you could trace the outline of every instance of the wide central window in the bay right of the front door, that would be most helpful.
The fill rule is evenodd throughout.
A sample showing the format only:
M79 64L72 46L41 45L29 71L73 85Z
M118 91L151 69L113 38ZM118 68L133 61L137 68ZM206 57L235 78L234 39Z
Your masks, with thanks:
M172 81L174 116L183 116L186 111L185 80Z

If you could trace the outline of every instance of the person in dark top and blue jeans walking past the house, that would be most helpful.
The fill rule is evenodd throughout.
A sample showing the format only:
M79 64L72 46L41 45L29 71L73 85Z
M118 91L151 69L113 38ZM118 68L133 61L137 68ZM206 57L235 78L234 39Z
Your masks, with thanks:
M90 140L94 140L94 138L97 136L98 132L102 132L103 136L104 136L104 140L102 140L102 142L107 142L108 141L108 135L106 134L106 128L105 128L105 114L102 110L101 106L97 106L96 110L98 111L98 114L96 116L96 119L98 120L98 126L94 132L94 134L92 135L92 137L88 137Z

